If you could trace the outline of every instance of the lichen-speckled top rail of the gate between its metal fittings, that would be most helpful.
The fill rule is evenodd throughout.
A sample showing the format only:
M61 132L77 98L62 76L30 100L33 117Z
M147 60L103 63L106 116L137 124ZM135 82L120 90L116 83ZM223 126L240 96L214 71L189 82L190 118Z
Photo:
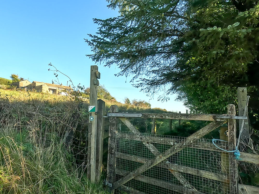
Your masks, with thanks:
M219 114L184 114L184 113L141 113L142 118L200 120L200 121L225 121L215 118Z

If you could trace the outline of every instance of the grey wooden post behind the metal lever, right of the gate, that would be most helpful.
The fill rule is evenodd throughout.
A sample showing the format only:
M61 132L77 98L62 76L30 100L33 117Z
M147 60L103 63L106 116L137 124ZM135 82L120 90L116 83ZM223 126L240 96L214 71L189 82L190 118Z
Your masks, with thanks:
M247 101L247 89L246 87L238 87L238 116L244 116L244 109ZM248 109L246 110L246 116L248 118ZM239 130L241 129L242 120L238 121ZM245 148L243 143L248 145L249 141L249 123L248 119L244 121L243 131L240 137L240 151L242 152Z

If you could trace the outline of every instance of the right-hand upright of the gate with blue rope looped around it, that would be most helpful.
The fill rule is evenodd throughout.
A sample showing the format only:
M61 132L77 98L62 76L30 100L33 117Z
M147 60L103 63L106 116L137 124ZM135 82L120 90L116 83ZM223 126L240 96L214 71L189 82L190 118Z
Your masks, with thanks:
M235 105L229 104L227 106L227 113L231 116L236 116L236 108ZM236 120L228 119L228 141L231 142L236 147ZM229 154L229 169L233 169L233 171L229 171L230 185L231 185L231 193L238 193L238 163L234 158L234 154ZM230 163L231 162L231 163Z

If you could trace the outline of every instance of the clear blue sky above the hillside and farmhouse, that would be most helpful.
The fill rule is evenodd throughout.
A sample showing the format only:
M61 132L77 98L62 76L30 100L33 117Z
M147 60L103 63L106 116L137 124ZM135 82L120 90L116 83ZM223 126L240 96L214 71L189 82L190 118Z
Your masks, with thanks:
M94 65L86 54L91 50L84 38L97 32L92 18L106 19L116 17L118 11L106 7L105 0L95 1L1 1L0 3L0 77L9 78L12 73L19 74L30 81L51 83L53 72L48 71L51 62L67 74L75 85L89 86L90 65ZM182 102L157 101L134 88L130 79L115 77L119 70L98 65L101 73L100 84L110 91L118 101L125 96L130 100L149 101L154 107L169 111L185 112ZM59 76L67 83L66 77ZM127 81L127 82L126 82ZM126 83L125 83L126 82ZM115 88L114 88L115 87Z

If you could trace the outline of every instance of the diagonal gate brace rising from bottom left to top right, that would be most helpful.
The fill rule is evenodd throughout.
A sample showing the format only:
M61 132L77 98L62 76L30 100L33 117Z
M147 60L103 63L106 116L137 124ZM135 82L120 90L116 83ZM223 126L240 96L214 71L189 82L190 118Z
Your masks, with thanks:
M182 150L184 147L186 147L189 143L191 143L195 139L201 138L204 135L208 134L209 132L213 131L214 129L217 129L219 126L221 126L225 122L226 121L211 122L210 124L206 125L205 127L200 129L199 131L193 133L187 139L182 140L180 143L177 143L176 145L172 146L167 151L163 152L160 156L157 156L155 159L150 160L149 162L143 164L142 166L140 166L136 170L129 173L124 178L121 178L120 180L116 181L114 183L114 189L116 189L120 185L123 185L124 183L130 181L132 178L140 175L141 173L148 170L149 168L157 165L158 163L167 159L169 156L171 156L171 155L177 153L178 151Z

